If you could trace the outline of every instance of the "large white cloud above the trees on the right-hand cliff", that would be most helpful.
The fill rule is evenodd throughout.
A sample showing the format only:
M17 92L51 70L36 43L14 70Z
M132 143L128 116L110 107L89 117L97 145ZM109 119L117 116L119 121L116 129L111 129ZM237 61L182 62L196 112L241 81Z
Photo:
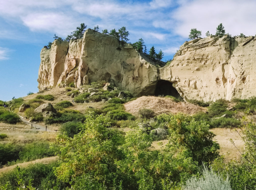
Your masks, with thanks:
M195 0L183 3L172 14L176 20L174 32L188 37L191 28L202 31L202 37L209 30L215 34L222 23L226 33L246 36L255 35L256 1L244 0Z

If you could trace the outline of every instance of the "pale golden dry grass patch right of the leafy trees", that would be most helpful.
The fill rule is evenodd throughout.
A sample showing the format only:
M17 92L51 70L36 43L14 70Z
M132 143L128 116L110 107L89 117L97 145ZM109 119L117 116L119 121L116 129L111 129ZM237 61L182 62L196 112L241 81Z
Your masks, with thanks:
M239 130L239 129L237 129ZM240 152L244 151L244 143L242 138L238 135L236 131L229 128L214 128L210 129L216 136L214 139L220 144L220 154L225 154L226 161L231 159L238 160L240 158ZM230 139L233 139L236 147L230 142Z

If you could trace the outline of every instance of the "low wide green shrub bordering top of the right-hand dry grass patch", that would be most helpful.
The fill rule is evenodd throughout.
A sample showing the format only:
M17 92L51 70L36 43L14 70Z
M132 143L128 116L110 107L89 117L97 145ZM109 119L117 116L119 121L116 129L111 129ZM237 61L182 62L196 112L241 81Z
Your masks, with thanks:
M229 128L229 127L238 127L240 124L241 122L237 119L221 117L218 119L212 119L209 125L211 128L216 128L216 127Z

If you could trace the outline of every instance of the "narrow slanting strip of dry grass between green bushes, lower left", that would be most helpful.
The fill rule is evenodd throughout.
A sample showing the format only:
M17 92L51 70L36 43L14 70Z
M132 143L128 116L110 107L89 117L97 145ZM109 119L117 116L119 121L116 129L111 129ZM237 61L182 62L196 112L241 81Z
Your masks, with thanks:
M29 161L29 162L19 163L19 164L15 164L12 166L4 166L3 168L0 169L0 174L2 174L4 172L8 172L10 170L13 170L17 165L19 167L27 167L29 164L35 164L35 163L48 164L50 162L57 160L58 158L59 158L58 156L52 156L52 157L37 159L37 160Z

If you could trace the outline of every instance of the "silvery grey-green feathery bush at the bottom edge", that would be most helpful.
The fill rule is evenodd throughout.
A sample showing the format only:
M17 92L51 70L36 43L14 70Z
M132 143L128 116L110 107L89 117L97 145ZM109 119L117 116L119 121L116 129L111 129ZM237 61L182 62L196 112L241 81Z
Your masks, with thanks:
M201 190L232 190L228 178L223 180L219 175L204 167L202 177L192 177L186 182L184 190L201 189Z

